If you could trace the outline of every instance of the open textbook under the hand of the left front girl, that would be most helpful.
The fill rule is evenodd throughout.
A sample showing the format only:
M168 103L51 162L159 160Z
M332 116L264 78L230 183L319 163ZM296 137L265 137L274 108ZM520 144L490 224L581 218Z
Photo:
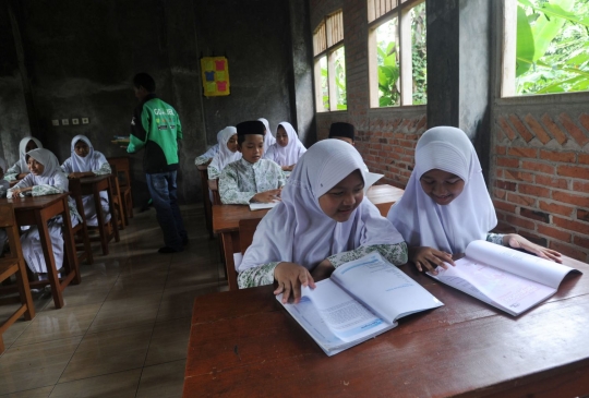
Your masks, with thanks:
M302 288L298 304L283 305L329 357L396 327L400 317L444 305L377 252L315 286Z

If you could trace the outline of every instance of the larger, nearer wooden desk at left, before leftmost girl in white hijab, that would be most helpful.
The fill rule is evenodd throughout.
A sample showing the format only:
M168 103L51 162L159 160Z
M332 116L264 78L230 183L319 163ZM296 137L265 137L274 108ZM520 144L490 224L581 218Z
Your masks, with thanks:
M14 214L16 216L16 224L22 226L37 226L39 228L39 237L43 245L43 254L47 264L47 278L48 281L34 281L31 282L31 287L51 286L51 294L53 296L53 303L56 309L63 306L62 291L68 285L77 285L82 281L80 276L80 267L77 264L77 256L75 255L75 243L72 232L72 221L70 218L70 208L68 207L69 194L56 194L45 196L27 196L27 197L14 197L10 200L1 200L14 205ZM53 256L53 249L51 246L51 237L47 229L47 221L58 215L62 215L64 228L63 228L63 252L65 254L63 261L63 269L61 281L58 278L58 272L56 267L56 260Z

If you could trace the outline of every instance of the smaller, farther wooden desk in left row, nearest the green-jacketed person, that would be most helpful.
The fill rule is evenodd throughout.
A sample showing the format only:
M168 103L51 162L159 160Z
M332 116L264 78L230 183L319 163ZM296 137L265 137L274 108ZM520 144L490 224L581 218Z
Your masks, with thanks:
M110 174L106 176L96 176L96 177L84 177L80 179L82 184L82 194L83 195L93 195L94 196L94 206L96 209L96 215L98 219L98 234L100 236L100 246L103 248L103 254L108 254L108 242L115 237L115 242L119 242L119 226L115 217L115 204L112 201L112 186L110 184ZM106 191L108 195L108 208L110 210L111 219L111 231L107 231L107 226L105 222L105 215L103 214L103 205L100 198L100 192Z

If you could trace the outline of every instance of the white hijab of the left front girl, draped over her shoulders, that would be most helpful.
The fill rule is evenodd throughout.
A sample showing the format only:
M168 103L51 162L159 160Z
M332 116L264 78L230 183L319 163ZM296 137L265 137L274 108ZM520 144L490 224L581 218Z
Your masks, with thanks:
M329 218L318 198L352 171L364 178L356 148L339 140L314 144L301 157L283 190L283 202L257 226L238 270L271 262L292 262L308 269L337 253L361 245L395 244L402 237L364 197L345 222Z

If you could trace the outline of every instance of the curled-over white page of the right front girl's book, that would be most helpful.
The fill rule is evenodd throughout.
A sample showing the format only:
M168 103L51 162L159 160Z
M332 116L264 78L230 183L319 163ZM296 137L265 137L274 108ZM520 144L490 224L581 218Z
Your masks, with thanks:
M478 240L466 249L467 257L557 289L574 268L510 248Z

